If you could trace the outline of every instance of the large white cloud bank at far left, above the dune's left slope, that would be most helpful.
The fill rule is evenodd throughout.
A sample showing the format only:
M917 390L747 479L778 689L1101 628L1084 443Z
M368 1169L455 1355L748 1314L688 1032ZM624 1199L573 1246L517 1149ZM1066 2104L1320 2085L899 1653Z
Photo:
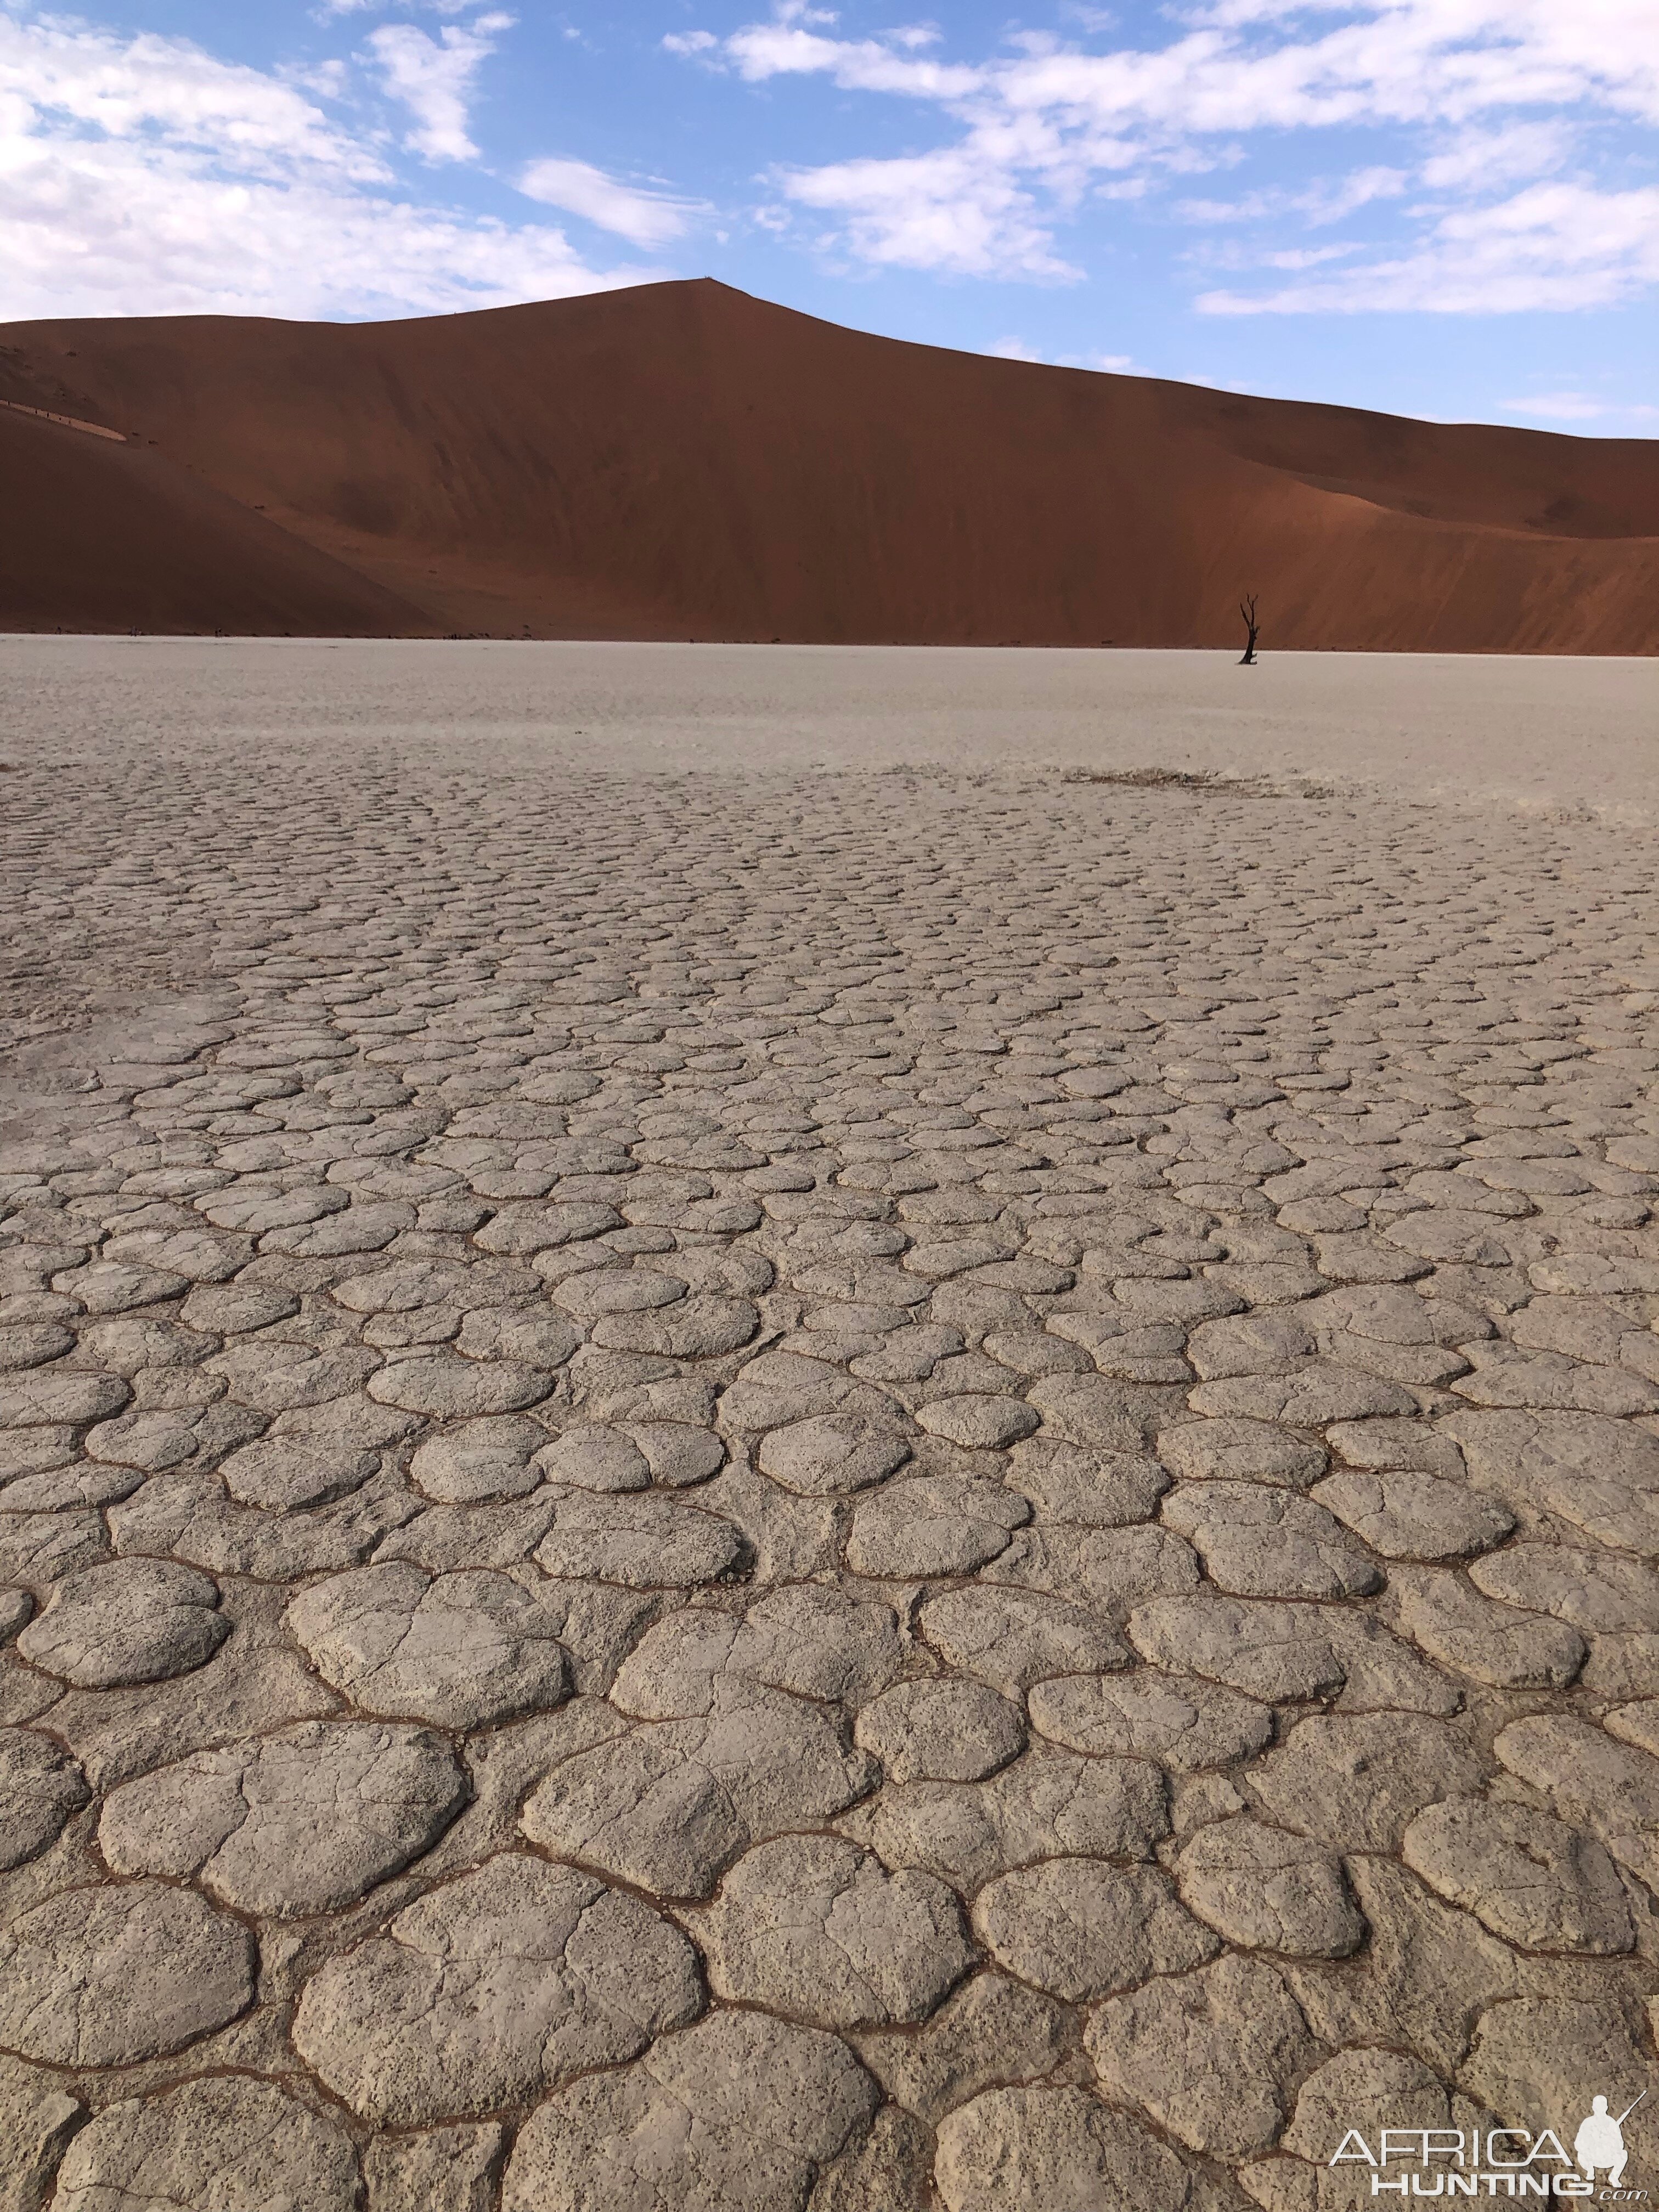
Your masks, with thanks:
M403 197L281 77L0 11L0 316L440 314L595 292L562 230Z

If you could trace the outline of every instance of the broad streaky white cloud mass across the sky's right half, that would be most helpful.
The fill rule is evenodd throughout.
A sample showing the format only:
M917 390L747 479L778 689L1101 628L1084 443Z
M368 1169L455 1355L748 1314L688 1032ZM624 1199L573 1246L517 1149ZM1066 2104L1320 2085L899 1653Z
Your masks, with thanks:
M1177 212L1332 228L1396 204L1405 250L1276 243L1261 268L1318 254L1354 268L1256 301L1212 294L1212 312L1314 301L1577 305L1652 281L1641 243L1610 237L1621 228L1617 204L1632 195L1599 190L1588 170L1573 186L1553 179L1597 126L1659 122L1655 0L1199 0L1170 13L1164 44L1082 51L1020 33L973 62L936 53L916 31L841 38L832 18L794 4L721 40L699 31L670 44L750 84L816 75L940 115L953 135L931 150L799 166L774 179L794 208L838 219L821 243L876 265L1071 276L1060 226L1091 195L1146 195L1175 175L1239 161L1259 137L1283 161L1290 135L1340 128L1405 135L1407 157L1301 190L1186 201ZM1086 29L1113 35L1110 18L1091 13ZM1535 223L1524 204L1544 188L1577 199ZM1511 199L1469 208L1502 192ZM1449 215L1447 199L1462 206ZM1517 208L1531 246L1504 239ZM1455 223L1471 212L1486 230L1460 234Z

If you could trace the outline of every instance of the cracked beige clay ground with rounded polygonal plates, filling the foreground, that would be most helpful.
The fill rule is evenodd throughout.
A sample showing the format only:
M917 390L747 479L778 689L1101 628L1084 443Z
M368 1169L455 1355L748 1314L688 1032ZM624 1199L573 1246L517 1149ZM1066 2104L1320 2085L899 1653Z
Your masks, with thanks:
M234 650L4 657L0 2208L1340 2212L1659 2086L1650 832Z

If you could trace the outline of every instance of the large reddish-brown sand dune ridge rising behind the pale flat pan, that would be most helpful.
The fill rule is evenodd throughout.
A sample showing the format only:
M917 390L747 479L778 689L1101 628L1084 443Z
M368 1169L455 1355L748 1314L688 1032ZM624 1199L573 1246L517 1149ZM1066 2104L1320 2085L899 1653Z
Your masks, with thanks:
M0 626L1659 650L1659 440L902 345L719 283L0 327ZM142 442L139 442L142 440Z

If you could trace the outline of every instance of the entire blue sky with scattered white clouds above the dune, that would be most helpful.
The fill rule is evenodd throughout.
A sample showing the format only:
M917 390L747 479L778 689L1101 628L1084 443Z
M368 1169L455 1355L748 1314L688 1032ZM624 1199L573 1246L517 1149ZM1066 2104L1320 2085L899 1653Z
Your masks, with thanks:
M670 276L1659 436L1659 0L0 0L0 321Z

